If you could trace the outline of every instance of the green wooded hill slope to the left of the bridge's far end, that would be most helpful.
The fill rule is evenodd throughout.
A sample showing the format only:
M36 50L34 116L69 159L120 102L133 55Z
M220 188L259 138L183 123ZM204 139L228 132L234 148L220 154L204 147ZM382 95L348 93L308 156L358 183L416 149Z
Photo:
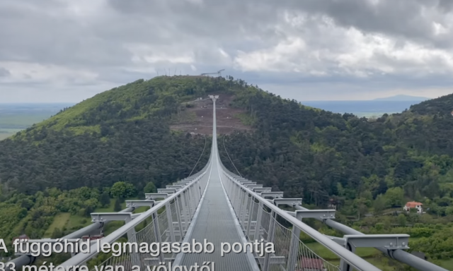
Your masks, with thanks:
M142 189L147 181L159 187L186 177L210 141L170 126L193 125L188 121L193 106L187 102L211 92L228 94L230 88L245 88L235 82L226 88L225 82L161 76L137 80L63 109L0 142L3 192L33 195L50 187L103 188L116 181Z

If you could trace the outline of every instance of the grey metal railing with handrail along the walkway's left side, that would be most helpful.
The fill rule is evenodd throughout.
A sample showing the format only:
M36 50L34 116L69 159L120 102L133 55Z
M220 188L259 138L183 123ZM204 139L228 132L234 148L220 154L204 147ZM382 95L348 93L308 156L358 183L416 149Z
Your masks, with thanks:
M158 189L158 193L145 194L147 200L130 200L127 205L130 207L149 206L149 210L133 215L131 212L122 213L92 213L93 222L105 222L111 220L125 220L126 224L119 229L108 234L100 243L113 243L127 234L127 239L130 243L151 243L161 242L179 242L182 240L185 231L195 213L195 209L200 203L202 191L206 188L207 178L203 178L206 174L206 169L210 163L206 165L202 171L197 174L173 183L172 186L167 186L164 189ZM154 201L157 198L164 198L160 201ZM135 232L135 227L150 219L144 229ZM71 270L73 266L86 265L88 260L91 260L97 255L97 246L91 246L90 253L79 253L60 265L65 270ZM144 267L146 265L159 265L159 262L171 260L174 255L159 254L152 257L149 253L128 253L122 251L119 257L112 255L108 260L98 265L122 265L125 270L131 270L128 267L138 265Z

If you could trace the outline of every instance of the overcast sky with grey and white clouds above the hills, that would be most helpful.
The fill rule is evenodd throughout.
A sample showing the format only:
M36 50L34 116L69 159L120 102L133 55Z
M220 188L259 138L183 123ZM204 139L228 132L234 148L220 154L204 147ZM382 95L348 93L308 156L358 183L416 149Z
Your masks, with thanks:
M453 1L0 1L0 103L222 68L301 101L447 95Z

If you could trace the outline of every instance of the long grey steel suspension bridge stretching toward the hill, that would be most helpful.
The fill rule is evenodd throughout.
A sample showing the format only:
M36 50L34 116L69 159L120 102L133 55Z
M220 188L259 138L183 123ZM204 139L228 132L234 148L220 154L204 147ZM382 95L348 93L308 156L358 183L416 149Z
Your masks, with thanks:
M302 207L302 198L284 198L282 192L272 191L263 185L242 178L226 169L219 158L217 148L217 124L215 103L218 96L210 96L213 102L212 150L205 167L192 176L158 189L158 193L147 193L146 200L127 200L127 208L121 212L92 213L92 224L79 229L62 239L38 239L28 242L58 243L79 241L81 236L98 231L111 221L125 221L125 225L100 240L91 241L88 252L71 253L71 258L59 265L64 270L76 271L75 266L86 266L88 260L96 258L96 247L114 243L127 236L130 243L202 243L214 244L212 253L151 253L123 251L96 265L98 270L105 266L122 266L125 270L173 263L173 266L193 266L195 263L214 263L215 270L263 270L263 271L378 271L367 260L355 254L356 248L373 247L389 258L406 263L421 271L446 271L426 260L407 253L407 234L362 234L335 222L336 210L308 210ZM292 211L282 210L282 206ZM134 214L137 207L149 210ZM303 219L314 218L333 229L343 232L342 238L326 236L305 224ZM140 231L135 227L147 221ZM151 222L149 222L151 221ZM299 236L303 232L314 241L337 255L339 261L329 261L316 255ZM272 253L256 253L248 249L245 253L221 255L222 243L247 242L273 243ZM98 243L97 243L98 242ZM97 244L96 244L97 243ZM35 257L30 253L16 253L11 260L16 270L32 265ZM8 266L8 265L6 265ZM6 267L6 270L9 270ZM95 270L93 268L92 270ZM190 270L190 268L188 268ZM13 270L11 270L13 271Z

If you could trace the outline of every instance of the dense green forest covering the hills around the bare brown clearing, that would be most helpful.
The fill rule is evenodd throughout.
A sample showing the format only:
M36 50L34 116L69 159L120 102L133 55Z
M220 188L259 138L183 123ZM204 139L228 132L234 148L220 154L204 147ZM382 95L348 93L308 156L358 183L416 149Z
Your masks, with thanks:
M147 183L159 188L188 176L210 140L169 126L185 114L182 102L210 93L234 95L229 106L245 109L241 119L254 129L220 135L222 162L231 171L226 151L242 176L288 198L303 198L309 207L332 199L338 219L362 232L409 233L418 238L411 248L430 260L453 256L453 95L367 119L304 107L230 76L137 80L0 141L0 217L16 217L4 222L16 225L13 231L0 227L0 235L43 236L32 230L36 214L46 214L42 228L59 212L87 217L103 205L101 195L115 198L109 189L117 182L137 193ZM81 196L84 189L91 192ZM80 198L74 210L41 204L68 193ZM427 213L398 215L411 200Z

